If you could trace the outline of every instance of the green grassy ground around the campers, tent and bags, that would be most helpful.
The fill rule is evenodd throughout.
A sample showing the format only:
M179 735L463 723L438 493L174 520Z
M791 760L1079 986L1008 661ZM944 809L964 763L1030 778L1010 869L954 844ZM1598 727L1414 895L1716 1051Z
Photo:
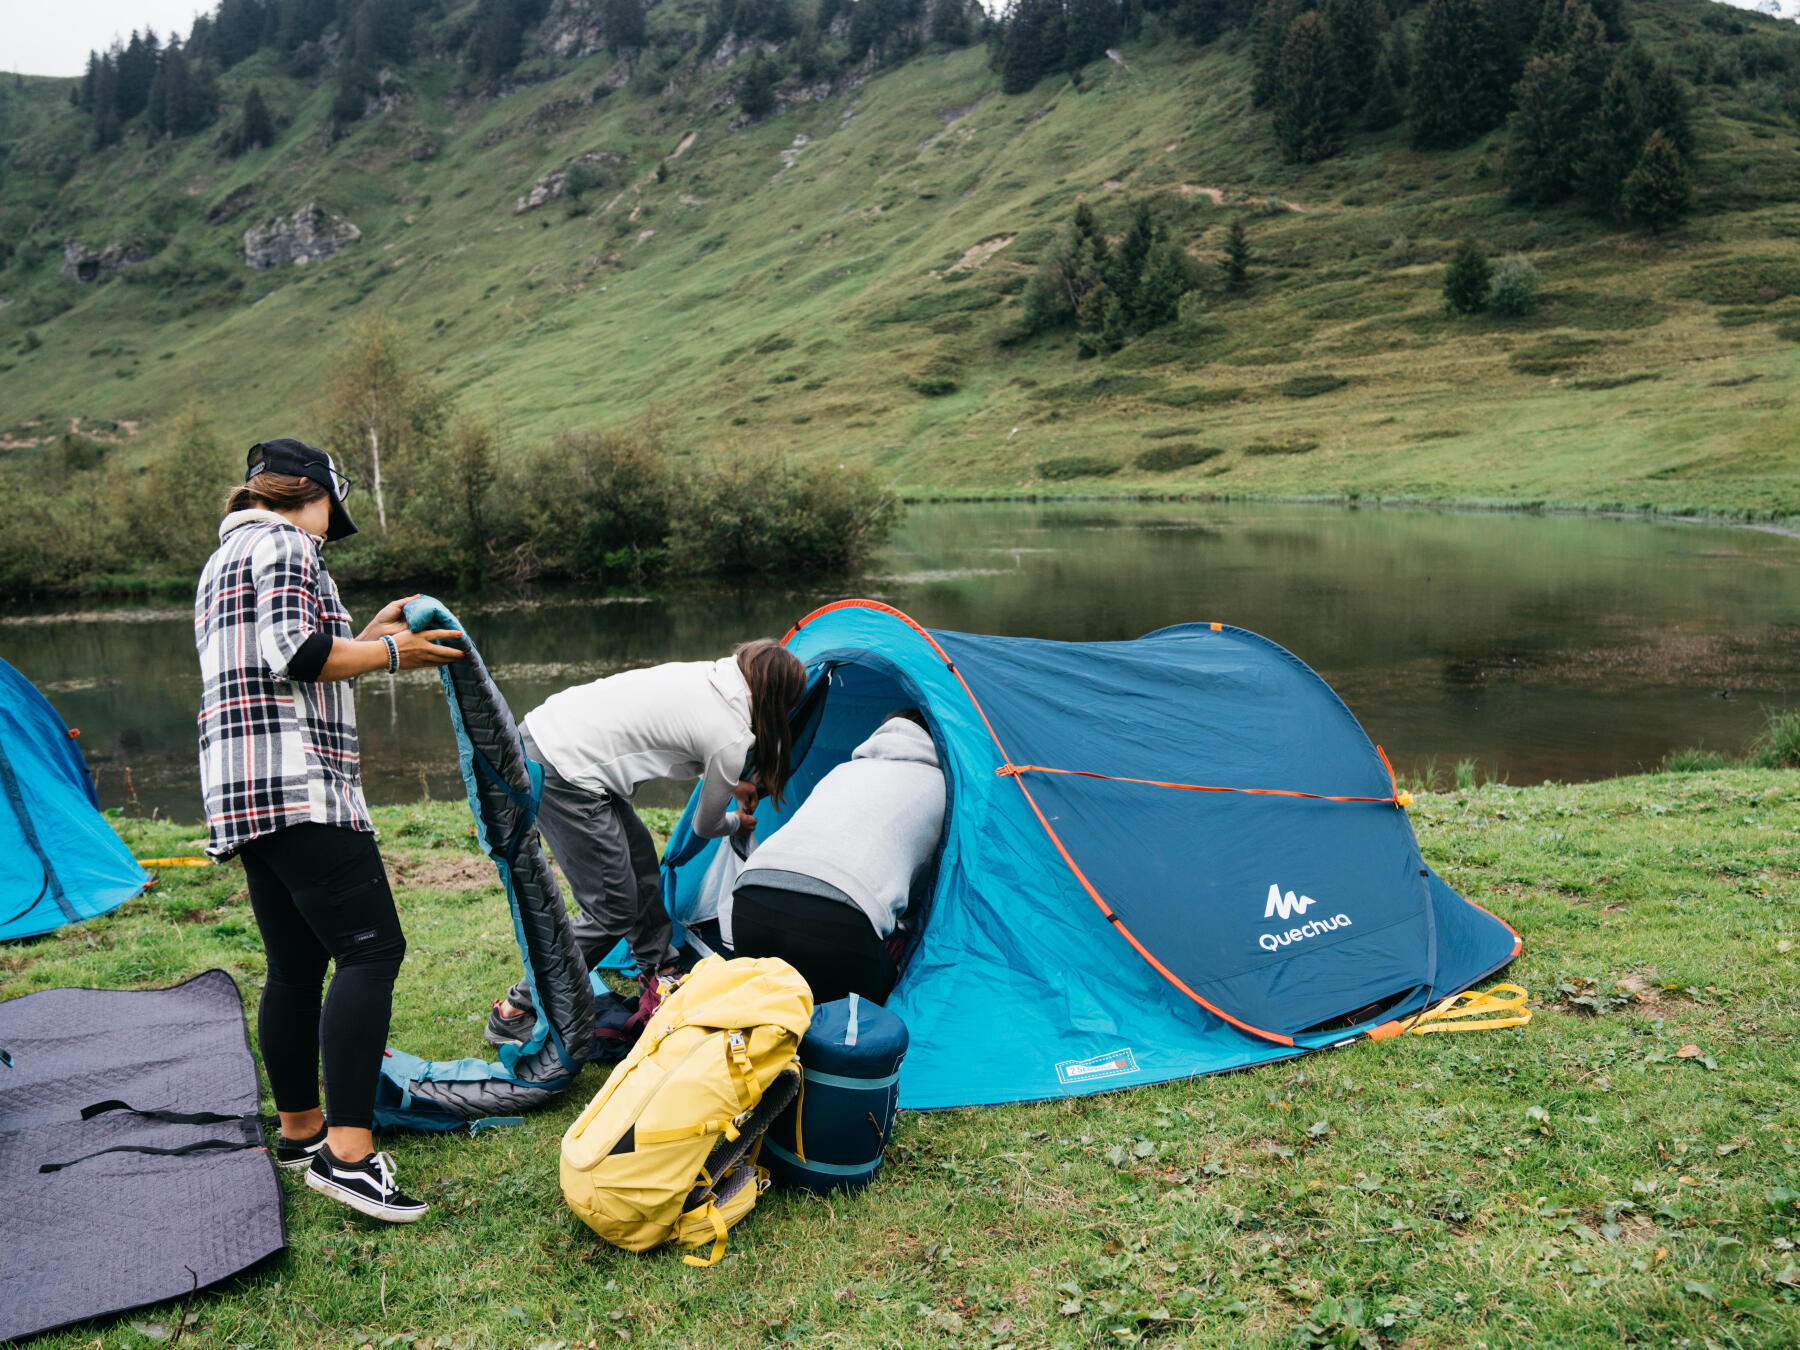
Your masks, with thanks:
M396 1139L434 1206L412 1229L284 1179L290 1251L196 1298L189 1339L1795 1345L1796 792L1793 772L1732 769L1422 796L1426 859L1525 936L1505 976L1532 994L1525 1030L902 1114L869 1192L767 1195L713 1271L608 1249L562 1206L556 1148L589 1071L520 1129ZM491 868L461 806L376 819L409 936L392 1039L482 1053L488 995L517 968ZM121 832L144 855L194 839ZM171 869L108 918L0 949L0 997L209 967L254 1004L236 868ZM121 1321L40 1345L146 1339Z

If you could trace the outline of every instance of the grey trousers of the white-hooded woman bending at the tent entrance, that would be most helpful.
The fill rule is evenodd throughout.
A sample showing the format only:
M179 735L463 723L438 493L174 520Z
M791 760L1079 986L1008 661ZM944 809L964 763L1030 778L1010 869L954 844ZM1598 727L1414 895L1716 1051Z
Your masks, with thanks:
M544 765L538 833L574 893L569 918L581 958L592 970L625 938L637 968L653 976L675 959L655 839L630 801L576 787L544 763L529 734L520 734L526 754ZM531 986L518 981L506 1001L531 1008Z

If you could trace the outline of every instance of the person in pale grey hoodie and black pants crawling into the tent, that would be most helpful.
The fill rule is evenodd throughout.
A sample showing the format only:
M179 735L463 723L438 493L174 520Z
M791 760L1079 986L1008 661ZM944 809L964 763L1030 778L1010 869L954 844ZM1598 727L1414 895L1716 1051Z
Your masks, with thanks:
M814 1003L850 994L886 1003L895 986L886 943L929 882L943 806L925 718L891 713L751 853L733 895L733 950L779 956Z

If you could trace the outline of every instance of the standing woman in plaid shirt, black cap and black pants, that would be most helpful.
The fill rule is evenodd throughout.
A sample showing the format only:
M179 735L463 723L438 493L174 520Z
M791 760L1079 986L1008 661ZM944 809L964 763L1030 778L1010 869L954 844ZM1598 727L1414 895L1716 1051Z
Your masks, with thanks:
M322 551L356 533L347 490L324 450L250 448L194 596L200 785L207 851L243 860L268 956L257 1040L281 1116L275 1161L362 1213L410 1222L425 1206L371 1132L407 940L362 797L349 682L463 652L443 644L461 634L410 632L398 599L351 637Z

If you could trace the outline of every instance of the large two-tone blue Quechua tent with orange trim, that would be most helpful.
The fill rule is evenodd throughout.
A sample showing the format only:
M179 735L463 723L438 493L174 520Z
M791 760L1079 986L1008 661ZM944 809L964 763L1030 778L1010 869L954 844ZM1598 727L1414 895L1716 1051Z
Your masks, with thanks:
M1256 634L979 637L851 599L787 644L810 675L788 810L896 707L925 715L945 765L936 884L889 999L911 1030L904 1107L1346 1044L1519 950L1424 864L1350 709ZM677 920L722 846L689 817L664 864ZM765 803L758 821L767 837L781 812Z

